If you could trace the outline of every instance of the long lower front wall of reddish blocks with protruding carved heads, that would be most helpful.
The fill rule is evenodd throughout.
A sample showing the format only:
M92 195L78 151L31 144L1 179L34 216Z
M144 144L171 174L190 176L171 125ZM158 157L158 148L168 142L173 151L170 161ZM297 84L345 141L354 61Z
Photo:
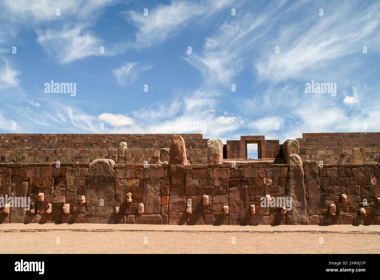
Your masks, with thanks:
M93 217L97 218L97 223L170 223L169 165L144 167L142 164L115 164L111 168L112 183L106 189L94 186L94 182L103 180L103 175L97 171L94 173L95 179L90 178L87 173L91 166L92 164L61 164L60 167L55 164L0 164L0 196L25 195L32 202L32 209L25 212L12 207L8 211L2 208L1 223L85 223L93 222ZM294 170L292 173L289 166L186 165L184 178L187 213L184 223L294 224L293 220L287 220L291 211L284 212L281 207L260 206L262 197L265 196L291 196L291 181L298 178L298 175L294 175ZM301 186L306 191L304 197L307 200L306 211L309 212L310 224L380 224L377 202L380 197L378 164L325 164L318 167L317 162L307 161L303 163L303 170L305 173L299 174L305 178L305 185L302 180L297 182L302 183ZM175 177L173 180L176 180ZM101 188L105 188L103 185ZM108 205L108 212L112 211L111 219L109 213L103 217L106 208L98 206L101 197L92 201L91 208L87 206L90 205L91 190L112 194L113 199L104 201L105 206ZM41 193L44 194L44 199L38 201ZM293 207L296 207L294 199L299 197L293 197ZM363 203L364 199L367 205ZM141 204L144 208L142 212L141 209L139 211ZM333 214L330 212L332 204L335 205Z

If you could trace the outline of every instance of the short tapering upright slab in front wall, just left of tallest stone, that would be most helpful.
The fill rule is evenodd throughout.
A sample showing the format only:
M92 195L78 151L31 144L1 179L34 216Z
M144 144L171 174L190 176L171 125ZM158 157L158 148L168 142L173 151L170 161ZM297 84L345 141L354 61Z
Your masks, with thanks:
M144 214L161 214L160 182L156 178L149 178L145 188Z

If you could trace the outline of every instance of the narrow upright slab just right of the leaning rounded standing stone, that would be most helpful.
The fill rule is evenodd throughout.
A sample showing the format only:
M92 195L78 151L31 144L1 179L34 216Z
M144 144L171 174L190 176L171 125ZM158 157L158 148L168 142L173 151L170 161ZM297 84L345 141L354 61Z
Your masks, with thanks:
M309 215L322 215L317 161L305 161L303 167L309 195Z

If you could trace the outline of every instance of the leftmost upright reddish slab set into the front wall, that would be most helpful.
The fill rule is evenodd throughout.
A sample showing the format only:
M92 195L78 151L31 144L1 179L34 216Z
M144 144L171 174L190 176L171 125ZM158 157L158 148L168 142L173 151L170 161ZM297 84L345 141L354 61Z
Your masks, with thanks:
M28 185L28 182L22 182L22 178L20 176L12 176L11 196L25 197L27 199ZM23 207L11 207L9 211L9 223L24 223L27 200L23 198L23 202Z

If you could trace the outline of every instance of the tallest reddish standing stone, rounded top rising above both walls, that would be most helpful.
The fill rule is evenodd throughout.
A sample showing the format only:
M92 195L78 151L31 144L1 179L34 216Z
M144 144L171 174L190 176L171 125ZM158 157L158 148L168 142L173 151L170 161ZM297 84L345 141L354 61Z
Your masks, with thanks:
M174 135L169 154L169 224L186 224L185 165L186 147L181 135Z

